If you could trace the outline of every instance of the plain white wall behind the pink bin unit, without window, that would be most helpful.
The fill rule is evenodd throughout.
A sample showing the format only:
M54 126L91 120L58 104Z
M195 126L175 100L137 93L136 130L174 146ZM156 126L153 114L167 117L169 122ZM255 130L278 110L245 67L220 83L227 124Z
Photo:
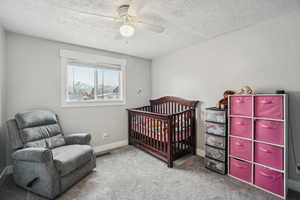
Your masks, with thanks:
M290 124L300 162L300 12L195 44L153 60L152 96L175 95L215 106L226 89L249 85L290 94ZM198 146L204 148L203 116ZM290 151L292 152L292 151ZM300 180L290 154L290 177Z

